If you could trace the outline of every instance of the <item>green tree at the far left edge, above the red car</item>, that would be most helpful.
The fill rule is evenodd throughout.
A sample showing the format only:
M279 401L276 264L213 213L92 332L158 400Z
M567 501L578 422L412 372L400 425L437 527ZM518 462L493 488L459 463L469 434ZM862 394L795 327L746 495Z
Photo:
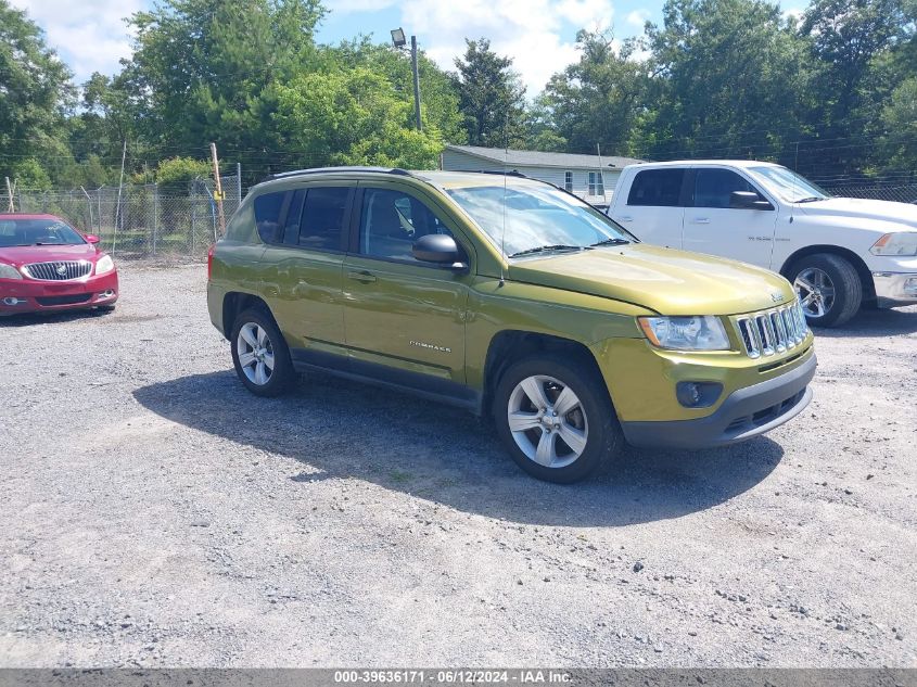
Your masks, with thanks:
M53 163L66 155L69 78L38 26L0 0L0 177L43 183Z

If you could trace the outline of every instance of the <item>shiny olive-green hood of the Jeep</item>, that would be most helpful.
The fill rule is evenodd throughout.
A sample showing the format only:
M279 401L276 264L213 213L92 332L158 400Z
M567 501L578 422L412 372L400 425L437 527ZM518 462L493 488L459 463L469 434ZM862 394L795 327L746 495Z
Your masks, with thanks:
M770 270L645 243L524 259L510 265L509 276L661 315L735 315L795 297L789 282Z

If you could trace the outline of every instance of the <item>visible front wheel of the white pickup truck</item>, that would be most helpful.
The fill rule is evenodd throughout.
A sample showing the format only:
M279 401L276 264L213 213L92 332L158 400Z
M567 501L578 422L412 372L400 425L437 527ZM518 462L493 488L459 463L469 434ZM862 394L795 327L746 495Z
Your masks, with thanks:
M863 283L843 257L830 253L807 255L789 271L812 327L839 327L859 309Z

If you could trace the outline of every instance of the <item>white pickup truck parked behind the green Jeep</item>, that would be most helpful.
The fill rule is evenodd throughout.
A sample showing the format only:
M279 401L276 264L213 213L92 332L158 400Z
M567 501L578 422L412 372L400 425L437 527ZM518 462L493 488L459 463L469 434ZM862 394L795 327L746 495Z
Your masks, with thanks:
M648 243L780 272L814 326L917 303L917 205L831 198L780 165L629 165L608 215Z

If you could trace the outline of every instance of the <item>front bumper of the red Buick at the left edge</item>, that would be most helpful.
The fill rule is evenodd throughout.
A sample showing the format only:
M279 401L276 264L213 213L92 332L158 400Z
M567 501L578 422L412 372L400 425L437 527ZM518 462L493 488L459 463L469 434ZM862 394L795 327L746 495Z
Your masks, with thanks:
M0 279L0 316L91 308L114 305L117 300L117 270L61 282Z

